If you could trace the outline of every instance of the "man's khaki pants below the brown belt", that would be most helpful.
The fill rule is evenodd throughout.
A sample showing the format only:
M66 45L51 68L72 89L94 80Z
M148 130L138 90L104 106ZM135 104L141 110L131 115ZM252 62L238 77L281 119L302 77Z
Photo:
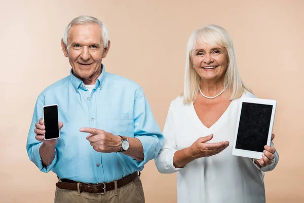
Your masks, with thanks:
M106 191L105 194L96 194L76 190L64 190L56 187L55 203L78 203L78 202L105 202L105 203L144 203L142 184L137 177L128 185Z

